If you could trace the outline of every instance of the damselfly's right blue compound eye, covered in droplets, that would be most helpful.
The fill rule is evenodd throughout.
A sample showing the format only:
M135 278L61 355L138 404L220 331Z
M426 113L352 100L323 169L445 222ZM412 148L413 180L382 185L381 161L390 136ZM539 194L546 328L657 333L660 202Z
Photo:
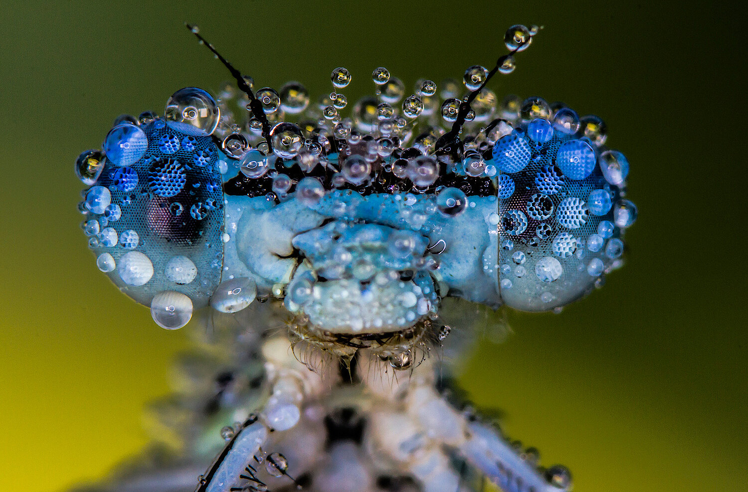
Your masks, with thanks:
M557 309L601 285L622 264L622 235L636 218L623 198L623 154L562 123L521 121L494 145L500 297L522 311Z

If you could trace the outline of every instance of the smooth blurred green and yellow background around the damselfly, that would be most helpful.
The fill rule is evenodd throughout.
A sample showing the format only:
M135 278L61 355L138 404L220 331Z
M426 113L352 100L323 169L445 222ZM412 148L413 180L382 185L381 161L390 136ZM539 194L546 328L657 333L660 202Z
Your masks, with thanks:
M511 437L574 473L577 491L747 490L745 81L739 15L690 3L4 1L0 15L0 491L62 491L146 443L187 333L96 270L76 212L80 151L122 113L162 112L227 73L189 20L257 84L331 69L349 100L383 65L412 87L489 67L513 23L545 25L500 96L563 100L607 121L640 219L628 264L561 315L506 313L463 377ZM693 2L693 5L696 5ZM723 9L723 10L719 10ZM497 321L497 316L491 323ZM491 329L488 329L491 332Z

